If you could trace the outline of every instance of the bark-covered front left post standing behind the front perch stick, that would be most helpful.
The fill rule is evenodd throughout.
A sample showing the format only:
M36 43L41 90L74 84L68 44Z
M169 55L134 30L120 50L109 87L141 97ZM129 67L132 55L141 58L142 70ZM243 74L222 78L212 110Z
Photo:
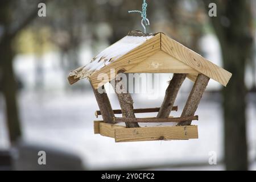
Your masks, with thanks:
M123 73L123 71L119 71L118 73ZM134 109L133 109L133 98L131 94L126 89L126 85L122 82L122 80L117 81L114 79L114 82L110 81L117 94L118 101L122 110L123 118L135 118ZM126 90L126 93L121 93L120 90L117 90L116 85L122 85L122 90ZM126 127L139 127L138 123L125 123Z

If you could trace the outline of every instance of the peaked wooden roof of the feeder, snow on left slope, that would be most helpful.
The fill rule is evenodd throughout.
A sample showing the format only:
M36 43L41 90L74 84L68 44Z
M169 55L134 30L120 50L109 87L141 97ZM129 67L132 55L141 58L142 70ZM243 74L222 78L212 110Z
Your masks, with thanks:
M199 73L203 73L224 86L232 76L232 73L163 33L131 31L84 67L69 73L68 80L74 84L82 78L89 78L94 88L98 88L113 79L112 72L117 74L121 69L125 73L188 73L187 77L192 81ZM109 80L98 80L101 73L107 74Z

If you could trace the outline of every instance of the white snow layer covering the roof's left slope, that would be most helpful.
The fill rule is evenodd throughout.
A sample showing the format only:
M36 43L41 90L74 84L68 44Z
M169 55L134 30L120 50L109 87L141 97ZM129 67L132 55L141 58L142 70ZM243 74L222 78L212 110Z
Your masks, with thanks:
M69 78L73 77L73 79L69 80L69 82L76 82L77 80L92 75L94 72L100 70L106 65L109 65L110 63L113 63L115 60L126 55L126 53L132 51L134 48L141 46L141 44L153 37L154 35L125 36L118 42L114 43L112 46L106 48L97 56L93 57L93 59L84 67L80 67L69 73Z

